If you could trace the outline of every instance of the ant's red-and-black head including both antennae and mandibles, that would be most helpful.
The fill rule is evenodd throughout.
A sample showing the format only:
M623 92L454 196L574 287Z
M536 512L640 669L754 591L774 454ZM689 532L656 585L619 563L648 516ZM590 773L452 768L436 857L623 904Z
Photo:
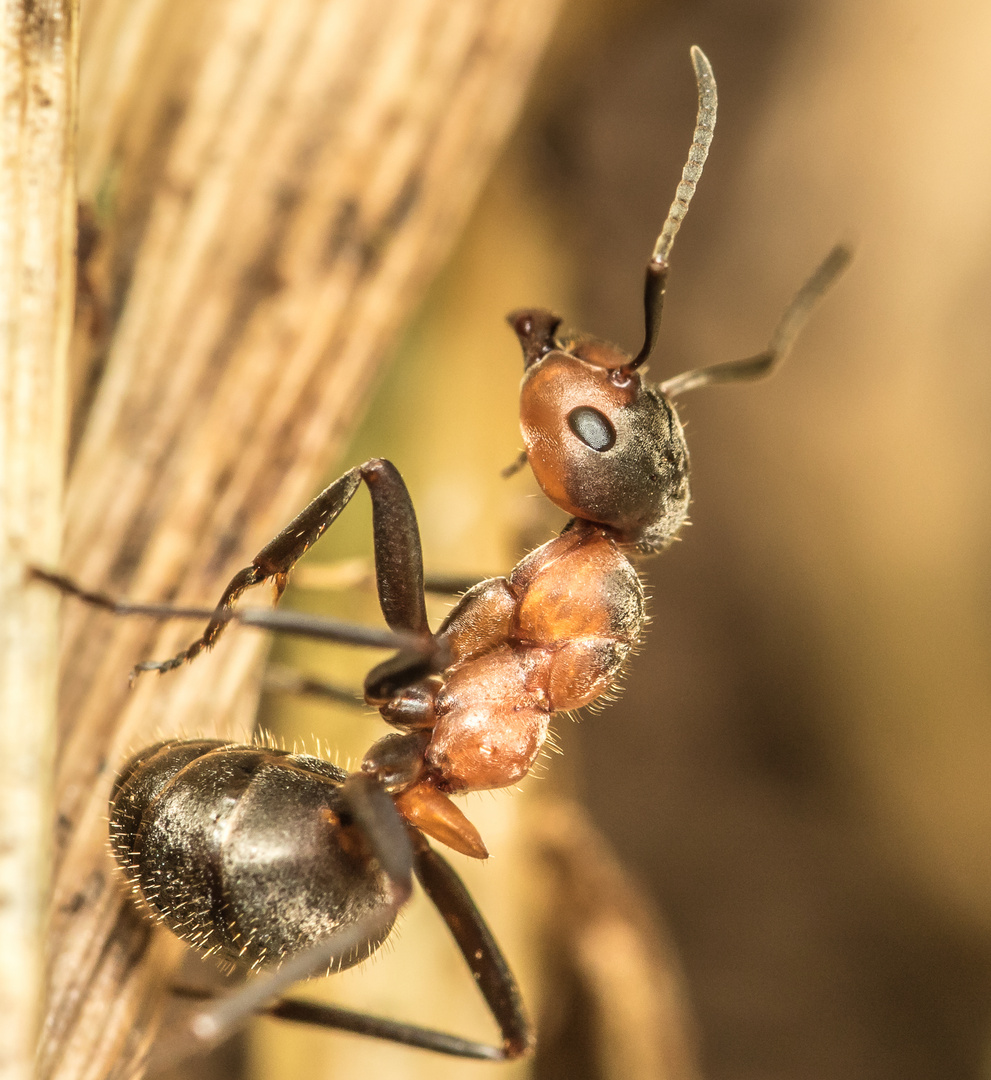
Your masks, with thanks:
M520 424L527 461L544 494L562 510L608 526L622 543L660 551L688 514L688 447L670 400L698 387L763 378L784 359L812 306L850 261L834 247L798 292L756 356L712 364L646 386L638 368L653 351L664 306L668 258L716 125L716 79L692 48L698 116L681 184L647 265L643 345L636 356L596 338L559 340L557 315L514 311L510 325L524 351Z

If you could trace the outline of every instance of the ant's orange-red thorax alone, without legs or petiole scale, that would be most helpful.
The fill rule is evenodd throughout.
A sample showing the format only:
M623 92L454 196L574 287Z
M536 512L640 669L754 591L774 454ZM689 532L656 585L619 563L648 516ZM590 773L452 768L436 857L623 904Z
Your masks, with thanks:
M493 615L504 620L494 638ZM584 523L531 552L508 578L465 594L442 630L458 660L425 753L444 789L522 779L551 716L612 689L643 621L636 571L610 537Z

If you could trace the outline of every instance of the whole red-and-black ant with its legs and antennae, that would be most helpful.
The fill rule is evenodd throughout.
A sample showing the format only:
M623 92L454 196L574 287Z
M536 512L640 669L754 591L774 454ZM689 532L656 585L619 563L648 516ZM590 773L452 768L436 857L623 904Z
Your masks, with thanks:
M352 469L318 495L237 572L212 611L137 605L39 577L120 613L203 617L202 636L167 672L209 648L229 622L396 649L365 679L365 701L398 729L347 774L316 757L216 740L159 743L133 757L110 797L114 853L141 901L203 953L279 963L226 998L202 1003L192 1041L219 1041L256 1011L361 1031L464 1057L507 1059L532 1034L516 982L458 875L429 845L485 859L452 795L515 784L527 774L554 713L579 708L615 683L644 622L643 590L627 552L659 552L684 522L689 457L671 404L714 382L766 375L812 305L849 260L834 248L785 311L768 349L742 361L644 383L657 335L668 256L716 122L716 82L692 49L698 117L677 197L647 268L643 346L629 356L526 309L508 316L522 347L520 422L529 463L571 521L506 578L465 592L433 633L424 606L417 519L388 461ZM240 610L239 597L289 571L361 484L371 496L379 602L390 630L285 611ZM364 959L388 936L416 876L450 929L502 1042L487 1045L409 1024L294 1000L296 981Z

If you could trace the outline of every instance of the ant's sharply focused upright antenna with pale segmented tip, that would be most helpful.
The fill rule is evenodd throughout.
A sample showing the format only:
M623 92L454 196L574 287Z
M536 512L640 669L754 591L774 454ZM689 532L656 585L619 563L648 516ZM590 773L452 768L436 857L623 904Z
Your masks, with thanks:
M647 264L647 278L643 281L643 348L624 365L624 373L635 372L653 352L657 341L661 311L664 308L664 286L667 283L668 256L684 215L688 214L689 203L702 176L702 166L708 157L712 134L716 131L716 77L712 75L712 65L709 64L708 57L697 45L692 45L692 65L698 82L698 116L695 118L695 132L692 135L688 161L681 171L681 183L675 193L675 201L667 212L667 220L654 244L650 262Z

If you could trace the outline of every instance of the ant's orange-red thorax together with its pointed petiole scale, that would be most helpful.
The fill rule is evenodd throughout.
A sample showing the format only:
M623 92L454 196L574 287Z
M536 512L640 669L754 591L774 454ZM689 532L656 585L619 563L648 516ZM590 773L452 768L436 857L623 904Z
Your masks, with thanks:
M469 590L436 635L450 657L443 676L381 703L407 734L376 743L363 768L435 839L477 855L480 840L466 821L452 821L446 795L517 783L554 713L614 687L646 613L637 572L611 534L575 521L507 578Z

